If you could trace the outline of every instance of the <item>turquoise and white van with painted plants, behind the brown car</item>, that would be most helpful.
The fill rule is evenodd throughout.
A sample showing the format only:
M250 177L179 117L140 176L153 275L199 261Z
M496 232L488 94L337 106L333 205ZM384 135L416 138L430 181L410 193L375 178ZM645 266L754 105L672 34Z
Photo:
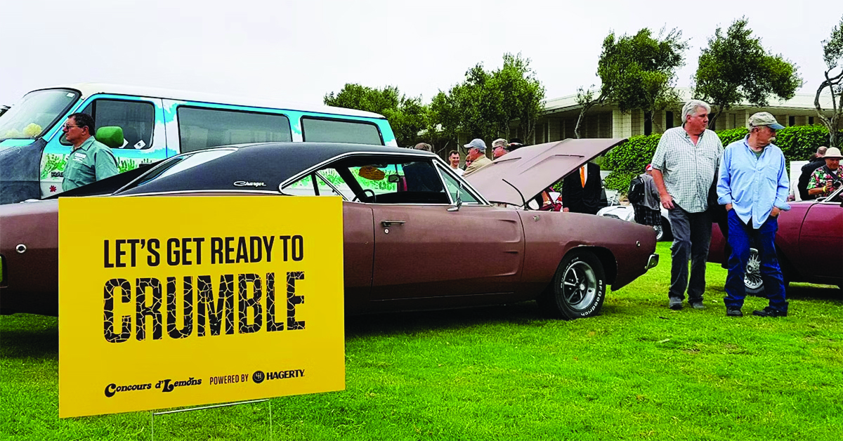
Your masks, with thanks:
M116 84L72 84L33 90L0 116L0 203L62 191L64 164L72 148L63 138L62 122L75 112L93 116L95 129L121 127L123 142L110 145L121 172L178 153L237 143L397 146L384 116L362 110Z

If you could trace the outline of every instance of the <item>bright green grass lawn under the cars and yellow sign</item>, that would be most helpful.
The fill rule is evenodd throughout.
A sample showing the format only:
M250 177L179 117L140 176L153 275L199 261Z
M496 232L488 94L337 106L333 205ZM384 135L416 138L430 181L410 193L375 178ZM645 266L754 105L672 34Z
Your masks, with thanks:
M709 265L705 310L667 309L661 264L599 317L528 302L346 321L346 390L155 417L155 439L843 439L843 299L794 285L743 318ZM0 318L0 439L150 439L150 412L58 419L56 318ZM270 427L271 418L271 427Z

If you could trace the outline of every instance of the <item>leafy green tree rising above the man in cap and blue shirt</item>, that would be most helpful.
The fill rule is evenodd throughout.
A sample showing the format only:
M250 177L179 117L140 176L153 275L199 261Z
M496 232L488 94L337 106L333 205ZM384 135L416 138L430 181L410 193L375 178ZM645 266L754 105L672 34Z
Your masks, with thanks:
M773 55L752 36L746 18L737 19L726 35L717 28L700 54L694 77L694 96L716 107L708 125L714 127L717 116L733 105L748 101L765 107L771 95L791 99L802 87L798 67Z

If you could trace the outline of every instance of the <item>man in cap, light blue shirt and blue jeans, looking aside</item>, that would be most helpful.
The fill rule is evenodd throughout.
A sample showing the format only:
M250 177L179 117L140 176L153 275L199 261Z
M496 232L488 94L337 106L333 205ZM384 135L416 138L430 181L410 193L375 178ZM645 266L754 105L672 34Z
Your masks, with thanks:
M754 311L761 317L787 316L785 284L776 257L776 230L779 212L790 210L787 194L785 156L772 141L782 129L767 112L749 116L749 135L723 150L717 202L726 206L732 254L726 277L726 315L741 317L746 286L744 269L749 261L749 244L754 243L760 257L761 279L770 306Z

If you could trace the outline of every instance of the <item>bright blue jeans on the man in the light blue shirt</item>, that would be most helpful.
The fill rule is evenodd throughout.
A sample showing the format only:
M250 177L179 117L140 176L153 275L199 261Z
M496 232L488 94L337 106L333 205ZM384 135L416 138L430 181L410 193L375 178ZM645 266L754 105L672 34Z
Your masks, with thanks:
M732 247L732 255L729 255L729 272L726 277L726 307L740 309L744 306L744 270L746 262L749 261L749 247L754 245L758 250L761 280L764 282L764 292L770 298L770 306L787 311L784 277L781 275L774 243L776 230L779 229L778 219L770 216L761 224L760 229L753 229L751 225L744 224L734 210L729 210L727 215L728 243Z

